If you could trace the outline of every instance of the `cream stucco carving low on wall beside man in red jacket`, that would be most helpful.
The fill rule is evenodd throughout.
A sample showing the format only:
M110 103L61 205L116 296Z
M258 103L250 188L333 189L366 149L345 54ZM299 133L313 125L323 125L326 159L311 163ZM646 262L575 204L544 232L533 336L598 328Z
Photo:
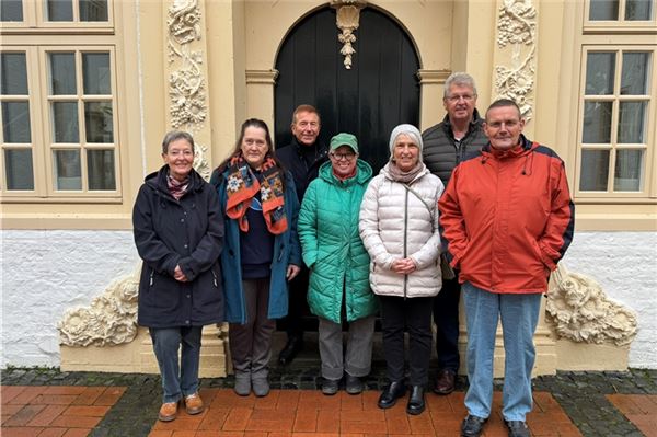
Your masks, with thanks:
M600 284L563 263L553 273L545 304L557 335L577 343L626 346L636 335L636 314L607 297Z

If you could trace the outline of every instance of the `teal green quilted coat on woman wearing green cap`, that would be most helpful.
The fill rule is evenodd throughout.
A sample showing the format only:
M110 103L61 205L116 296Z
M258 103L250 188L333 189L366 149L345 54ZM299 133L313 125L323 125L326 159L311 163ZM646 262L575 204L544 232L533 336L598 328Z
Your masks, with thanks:
M339 181L331 162L324 163L299 212L299 240L310 268L308 303L313 314L334 323L342 322L343 298L348 322L378 310L369 287L369 255L358 234L358 211L372 169L361 160L357 168L354 177Z

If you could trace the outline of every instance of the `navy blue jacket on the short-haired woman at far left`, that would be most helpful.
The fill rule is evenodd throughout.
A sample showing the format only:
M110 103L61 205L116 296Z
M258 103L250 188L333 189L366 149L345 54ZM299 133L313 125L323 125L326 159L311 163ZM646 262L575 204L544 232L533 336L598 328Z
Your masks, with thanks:
M176 200L166 186L168 170L164 165L146 177L132 209L135 243L143 260L138 323L175 327L222 322L219 197L192 170L189 188ZM176 265L188 281L174 279Z

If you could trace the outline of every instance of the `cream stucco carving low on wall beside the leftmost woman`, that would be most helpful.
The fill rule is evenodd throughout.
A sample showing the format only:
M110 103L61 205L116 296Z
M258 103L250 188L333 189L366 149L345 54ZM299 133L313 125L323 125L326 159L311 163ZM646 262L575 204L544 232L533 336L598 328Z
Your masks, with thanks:
M57 324L59 343L67 346L106 346L131 342L137 335L138 268L112 283L87 308L68 310Z

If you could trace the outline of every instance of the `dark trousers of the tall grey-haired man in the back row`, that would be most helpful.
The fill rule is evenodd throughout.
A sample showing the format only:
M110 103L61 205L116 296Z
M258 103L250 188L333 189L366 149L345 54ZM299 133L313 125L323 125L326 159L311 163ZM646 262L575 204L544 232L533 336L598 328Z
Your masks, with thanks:
M434 298L434 323L436 323L436 353L438 367L459 371L459 277L442 279L442 289Z

